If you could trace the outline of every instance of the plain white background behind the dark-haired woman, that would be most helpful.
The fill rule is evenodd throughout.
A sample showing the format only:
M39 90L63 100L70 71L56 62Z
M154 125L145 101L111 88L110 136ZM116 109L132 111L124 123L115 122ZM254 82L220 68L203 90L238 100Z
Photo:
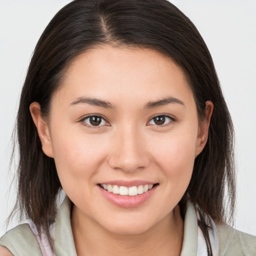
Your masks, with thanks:
M14 187L8 196L10 137L26 69L43 29L68 2L0 0L0 235L15 197ZM256 0L171 2L194 22L212 54L236 132L235 227L256 235Z

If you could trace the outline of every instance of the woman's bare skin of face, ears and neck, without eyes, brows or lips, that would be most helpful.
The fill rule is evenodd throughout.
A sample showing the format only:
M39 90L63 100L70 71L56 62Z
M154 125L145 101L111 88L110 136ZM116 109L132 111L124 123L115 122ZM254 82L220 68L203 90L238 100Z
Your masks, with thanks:
M166 96L182 104L145 108ZM72 104L80 97L98 98L114 108ZM54 158L62 187L74 203L71 225L79 256L180 255L183 220L176 205L206 143L212 110L207 101L205 119L198 123L192 91L170 59L150 49L109 45L72 62L47 120L37 102L30 105L42 149ZM93 114L106 121L85 126L89 120L81 119ZM157 125L152 118L163 114L171 118ZM116 179L159 185L139 206L119 207L97 185Z

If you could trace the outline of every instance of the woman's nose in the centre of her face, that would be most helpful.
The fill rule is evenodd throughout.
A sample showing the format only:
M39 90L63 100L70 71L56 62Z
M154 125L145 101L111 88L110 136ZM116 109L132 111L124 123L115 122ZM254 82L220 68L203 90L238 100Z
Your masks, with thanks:
M114 134L108 164L125 172L146 168L150 163L141 131L125 127Z

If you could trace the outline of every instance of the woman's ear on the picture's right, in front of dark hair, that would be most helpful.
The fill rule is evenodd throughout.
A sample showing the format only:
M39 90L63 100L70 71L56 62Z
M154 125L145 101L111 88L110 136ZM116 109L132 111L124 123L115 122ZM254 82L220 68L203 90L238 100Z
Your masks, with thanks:
M204 109L205 118L199 124L199 130L198 130L198 135L196 139L195 157L202 151L202 149L204 148L207 142L210 117L211 117L212 111L213 111L213 103L207 100L205 102L205 109Z

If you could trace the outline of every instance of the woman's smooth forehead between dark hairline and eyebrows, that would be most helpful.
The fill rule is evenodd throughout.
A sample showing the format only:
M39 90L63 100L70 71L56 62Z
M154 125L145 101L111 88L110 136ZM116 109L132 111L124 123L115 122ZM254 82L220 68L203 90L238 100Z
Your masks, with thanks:
M166 95L185 100L192 92L182 70L161 53L105 44L72 61L57 94L70 102L86 96L139 104Z

